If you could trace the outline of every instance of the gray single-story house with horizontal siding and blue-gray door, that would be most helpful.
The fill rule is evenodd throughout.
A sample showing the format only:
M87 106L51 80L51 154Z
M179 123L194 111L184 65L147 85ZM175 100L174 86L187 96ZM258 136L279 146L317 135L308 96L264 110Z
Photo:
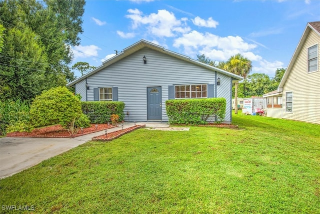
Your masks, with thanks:
M168 121L168 99L224 97L224 122L230 123L232 83L239 80L242 77L140 40L67 86L74 87L82 101L123 101L129 121Z

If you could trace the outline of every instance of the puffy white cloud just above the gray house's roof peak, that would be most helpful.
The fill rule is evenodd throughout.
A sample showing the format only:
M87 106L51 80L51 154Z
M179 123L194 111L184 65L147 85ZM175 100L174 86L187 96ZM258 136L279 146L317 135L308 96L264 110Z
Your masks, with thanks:
M138 9L129 9L125 17L132 20L132 29L145 25L147 32L156 37L174 37L175 33L186 33L190 28L185 24L185 18L177 20L173 13L158 10L144 16Z

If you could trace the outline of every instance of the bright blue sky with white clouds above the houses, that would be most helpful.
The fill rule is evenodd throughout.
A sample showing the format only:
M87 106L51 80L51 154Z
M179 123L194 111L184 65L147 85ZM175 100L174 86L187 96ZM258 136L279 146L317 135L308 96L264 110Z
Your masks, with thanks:
M287 67L306 24L320 21L320 1L88 0L82 19L72 64L100 66L144 39L192 59L240 53L252 61L250 74L273 77Z

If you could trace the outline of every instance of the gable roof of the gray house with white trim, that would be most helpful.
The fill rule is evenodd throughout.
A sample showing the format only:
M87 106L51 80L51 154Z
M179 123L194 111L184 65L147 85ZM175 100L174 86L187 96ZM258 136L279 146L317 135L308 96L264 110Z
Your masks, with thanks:
M177 59L192 63L192 64L197 65L197 66L201 66L201 67L206 68L208 70L222 73L222 74L224 74L226 76L232 77L232 82L237 82L237 81L240 81L240 80L243 79L241 76L238 76L238 75L232 74L230 72L221 70L219 68L207 65L205 63L201 63L201 62L199 62L197 60L193 60L190 57L184 56L182 54L178 54L178 53L175 53L173 51L166 50L163 47L158 46L156 44L153 44L151 42L148 42L146 40L140 40L140 41L134 43L133 45L123 49L123 51L121 53L119 53L119 54L111 57L110 59L104 61L102 63L102 65L100 65L99 67L97 67L97 68L93 69L92 71L84 74L83 76L77 78L76 80L73 80L72 82L66 84L66 86L68 86L68 87L73 86L74 84L78 83L79 81L81 81L81 80L83 80L83 79L95 74L96 72L98 72L98 71L100 71L100 70L112 65L115 62L120 61L121 59L133 54L134 52L136 52L136 51L138 51L138 50L140 50L142 48L149 48L149 49L158 51L160 53L166 54L168 56L171 56L171 57L174 57L174 58L177 58Z

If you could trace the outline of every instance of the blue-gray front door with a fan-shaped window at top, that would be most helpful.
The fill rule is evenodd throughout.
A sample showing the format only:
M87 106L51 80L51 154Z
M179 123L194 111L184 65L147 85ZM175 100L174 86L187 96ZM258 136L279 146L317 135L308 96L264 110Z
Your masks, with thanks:
M147 120L162 120L161 87L147 87Z

